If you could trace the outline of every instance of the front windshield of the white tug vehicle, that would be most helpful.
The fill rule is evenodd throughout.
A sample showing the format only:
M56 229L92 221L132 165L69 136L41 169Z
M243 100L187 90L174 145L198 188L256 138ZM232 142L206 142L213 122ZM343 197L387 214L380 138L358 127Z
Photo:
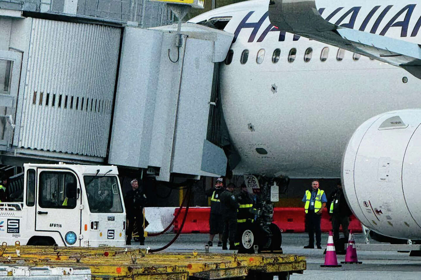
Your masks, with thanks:
M116 176L83 176L91 213L123 213Z

